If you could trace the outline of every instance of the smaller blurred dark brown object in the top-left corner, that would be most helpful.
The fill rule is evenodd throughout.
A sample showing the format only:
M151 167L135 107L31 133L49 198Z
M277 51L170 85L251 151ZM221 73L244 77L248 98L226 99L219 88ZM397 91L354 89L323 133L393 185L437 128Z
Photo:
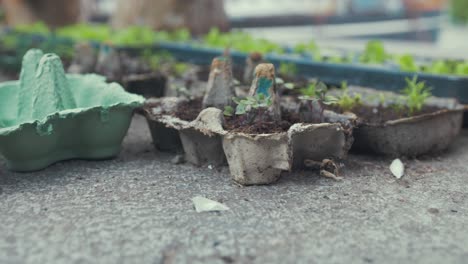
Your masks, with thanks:
M44 21L52 27L76 23L80 0L3 0L9 25Z

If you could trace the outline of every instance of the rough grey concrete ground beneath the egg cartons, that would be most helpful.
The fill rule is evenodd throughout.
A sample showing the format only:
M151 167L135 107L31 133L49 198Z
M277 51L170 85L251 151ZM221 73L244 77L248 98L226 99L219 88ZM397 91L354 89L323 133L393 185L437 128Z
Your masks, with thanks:
M173 165L142 117L121 155L35 173L0 161L0 263L466 263L468 131L440 157L351 155L337 182L285 173L240 187L227 168ZM230 211L196 213L191 198Z

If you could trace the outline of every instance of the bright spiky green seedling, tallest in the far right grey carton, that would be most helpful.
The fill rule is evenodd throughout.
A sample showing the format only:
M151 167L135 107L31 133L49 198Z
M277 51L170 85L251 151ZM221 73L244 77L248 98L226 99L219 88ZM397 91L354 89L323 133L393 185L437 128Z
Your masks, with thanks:
M413 79L406 78L406 87L402 90L405 95L406 105L410 115L421 111L426 100L432 96L431 89L424 82L418 82L416 76Z

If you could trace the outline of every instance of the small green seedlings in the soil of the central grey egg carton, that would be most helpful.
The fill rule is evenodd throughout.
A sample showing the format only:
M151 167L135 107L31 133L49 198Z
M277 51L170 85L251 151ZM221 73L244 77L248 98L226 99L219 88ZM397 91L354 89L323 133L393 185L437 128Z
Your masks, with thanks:
M233 97L232 100L237 104L236 109L232 106L224 107L224 115L233 116L244 115L252 110L266 109L272 105L270 97L266 97L264 94L257 94L255 96L247 96L244 99Z

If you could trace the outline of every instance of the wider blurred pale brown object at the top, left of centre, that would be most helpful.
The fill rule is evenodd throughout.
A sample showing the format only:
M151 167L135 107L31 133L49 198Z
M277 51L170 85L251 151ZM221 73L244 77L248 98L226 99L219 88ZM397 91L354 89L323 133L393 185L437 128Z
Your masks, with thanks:
M187 27L194 35L211 27L229 28L222 0L119 0L112 25L148 25L165 30Z

